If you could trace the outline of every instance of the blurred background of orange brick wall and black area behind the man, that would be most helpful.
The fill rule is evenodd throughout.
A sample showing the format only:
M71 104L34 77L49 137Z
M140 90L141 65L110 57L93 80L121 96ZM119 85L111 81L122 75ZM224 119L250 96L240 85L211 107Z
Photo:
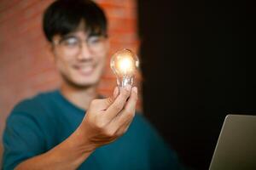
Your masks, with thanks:
M41 19L52 0L0 0L0 135L21 99L57 88ZM253 1L96 0L111 50L141 59L143 111L188 167L208 169L227 114L256 113ZM112 93L106 64L99 92ZM236 132L234 132L236 133Z

